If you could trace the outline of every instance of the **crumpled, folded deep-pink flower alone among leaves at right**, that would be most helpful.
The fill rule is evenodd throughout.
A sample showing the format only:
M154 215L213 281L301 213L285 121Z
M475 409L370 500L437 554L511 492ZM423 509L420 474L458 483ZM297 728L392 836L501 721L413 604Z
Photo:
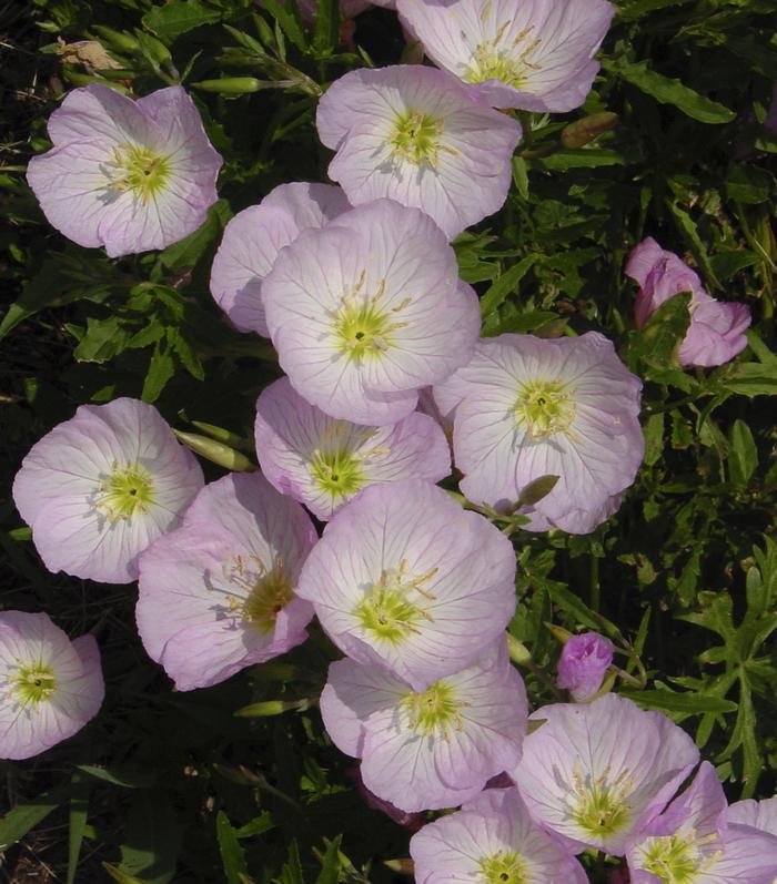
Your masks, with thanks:
M750 325L749 308L745 304L715 301L704 289L698 275L653 237L648 236L632 251L625 273L639 283L634 306L637 328L643 328L670 297L690 292L690 325L680 344L680 365L703 368L723 365L747 346L745 332Z

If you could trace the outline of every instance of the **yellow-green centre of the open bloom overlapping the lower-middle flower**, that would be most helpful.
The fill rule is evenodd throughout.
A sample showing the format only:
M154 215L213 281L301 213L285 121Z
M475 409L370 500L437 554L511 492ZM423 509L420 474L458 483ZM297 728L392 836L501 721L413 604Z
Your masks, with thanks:
M381 579L373 583L367 596L354 609L354 616L375 639L392 644L404 641L411 633L418 631L422 620L432 620L423 601L434 597L423 589L423 585L436 572L434 568L421 577L414 577L407 573L406 562L401 561L397 569L381 573Z

